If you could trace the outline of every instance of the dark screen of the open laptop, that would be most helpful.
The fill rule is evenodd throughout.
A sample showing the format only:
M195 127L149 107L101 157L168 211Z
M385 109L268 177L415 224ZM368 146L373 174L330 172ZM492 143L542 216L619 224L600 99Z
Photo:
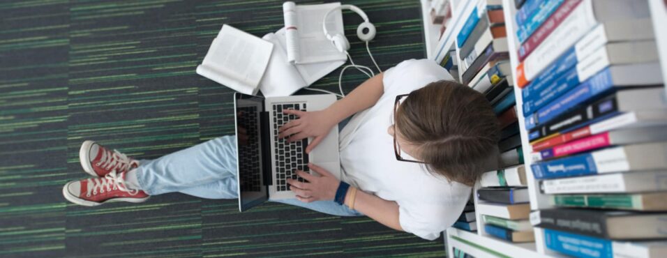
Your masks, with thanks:
M241 169L241 191L260 192L260 141L257 139L257 107L239 107L242 116L237 116L239 126L246 128L247 144L239 144L239 165Z

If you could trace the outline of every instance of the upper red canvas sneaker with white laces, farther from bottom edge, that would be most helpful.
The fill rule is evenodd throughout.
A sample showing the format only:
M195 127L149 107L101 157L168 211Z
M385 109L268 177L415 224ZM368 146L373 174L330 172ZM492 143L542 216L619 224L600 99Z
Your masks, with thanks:
M119 151L110 151L93 141L81 144L79 160L84 171L92 176L105 176L116 171L125 173L139 166L139 162Z

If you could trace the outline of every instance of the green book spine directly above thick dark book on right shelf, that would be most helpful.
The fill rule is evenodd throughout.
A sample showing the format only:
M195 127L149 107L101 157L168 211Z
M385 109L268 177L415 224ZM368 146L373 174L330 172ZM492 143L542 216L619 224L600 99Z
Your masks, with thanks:
M641 210L636 195L551 195L555 206Z

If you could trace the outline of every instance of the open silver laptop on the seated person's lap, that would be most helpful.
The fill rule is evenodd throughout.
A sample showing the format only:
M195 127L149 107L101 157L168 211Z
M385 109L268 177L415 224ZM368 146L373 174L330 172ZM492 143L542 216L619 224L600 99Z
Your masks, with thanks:
M310 154L306 154L306 147L312 139L291 143L278 139L278 128L298 119L283 114L284 109L317 111L334 102L336 96L330 94L263 98L234 93L240 211L247 211L269 199L294 198L287 179L305 181L297 176L297 169L316 174L309 171L308 162L327 169L340 179L338 126L332 128ZM247 140L238 140L239 130L246 131Z

